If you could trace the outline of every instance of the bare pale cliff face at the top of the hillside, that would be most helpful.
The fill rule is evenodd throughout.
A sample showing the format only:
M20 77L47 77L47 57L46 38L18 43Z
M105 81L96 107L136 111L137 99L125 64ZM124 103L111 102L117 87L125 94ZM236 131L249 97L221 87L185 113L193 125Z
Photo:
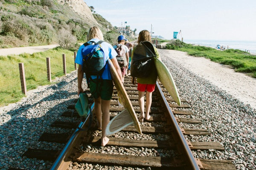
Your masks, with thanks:
M84 0L58 0L61 5L67 5L78 15L84 17L89 26L99 26L99 23L93 17L93 14Z

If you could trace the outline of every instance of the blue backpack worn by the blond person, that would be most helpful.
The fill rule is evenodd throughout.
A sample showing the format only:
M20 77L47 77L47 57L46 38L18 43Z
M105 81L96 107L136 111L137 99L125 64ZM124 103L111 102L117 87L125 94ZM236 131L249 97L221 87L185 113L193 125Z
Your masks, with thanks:
M84 43L85 47L82 49L82 70L86 74L87 79L91 79L92 75L97 76L99 79L105 69L106 62L104 61L102 42L104 41L93 42L92 45L89 45L88 42Z

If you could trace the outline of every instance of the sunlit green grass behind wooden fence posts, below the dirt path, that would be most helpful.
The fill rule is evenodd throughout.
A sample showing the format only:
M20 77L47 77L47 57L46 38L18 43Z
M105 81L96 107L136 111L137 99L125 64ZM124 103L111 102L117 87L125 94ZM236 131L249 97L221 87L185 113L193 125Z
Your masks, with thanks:
M27 91L39 85L49 85L47 81L46 58L50 58L51 77L61 77L63 73L62 54L66 55L67 73L74 71L74 53L54 48L34 54L0 56L0 107L18 102L25 95L21 92L19 64L24 63Z

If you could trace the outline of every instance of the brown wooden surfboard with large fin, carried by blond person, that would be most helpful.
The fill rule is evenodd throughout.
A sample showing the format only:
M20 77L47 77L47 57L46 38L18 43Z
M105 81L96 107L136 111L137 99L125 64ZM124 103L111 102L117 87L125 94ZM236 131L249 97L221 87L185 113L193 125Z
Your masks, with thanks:
M122 84L121 79L119 78L116 68L113 65L111 59L108 59L108 65L111 71L112 79L114 80L114 84L116 86L116 90L118 96L121 98L122 105L124 106L124 110L121 111L117 116L115 116L111 121L108 123L106 128L106 135L111 135L113 133L119 132L120 130L128 127L130 125L134 125L136 130L142 134L140 128L140 122L136 116L134 108L131 105L131 101L129 99L128 94L125 91L125 87Z

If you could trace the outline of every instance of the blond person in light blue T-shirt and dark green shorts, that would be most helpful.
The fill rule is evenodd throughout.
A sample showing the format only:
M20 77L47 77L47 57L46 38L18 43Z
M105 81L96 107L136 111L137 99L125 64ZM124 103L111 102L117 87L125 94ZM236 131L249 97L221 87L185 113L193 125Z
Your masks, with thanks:
M79 64L77 72L78 95L84 92L82 80L85 73L88 87L94 99L98 128L102 130L101 145L105 146L109 141L105 130L110 120L109 110L113 94L113 80L108 66L108 59L113 62L120 79L122 74L116 59L116 51L112 45L103 41L102 31L98 27L93 26L89 29L87 40L88 42L79 47L75 60ZM94 57L96 54L97 56ZM97 57L98 59L95 59ZM99 71L95 71L96 66L97 68L101 67Z

